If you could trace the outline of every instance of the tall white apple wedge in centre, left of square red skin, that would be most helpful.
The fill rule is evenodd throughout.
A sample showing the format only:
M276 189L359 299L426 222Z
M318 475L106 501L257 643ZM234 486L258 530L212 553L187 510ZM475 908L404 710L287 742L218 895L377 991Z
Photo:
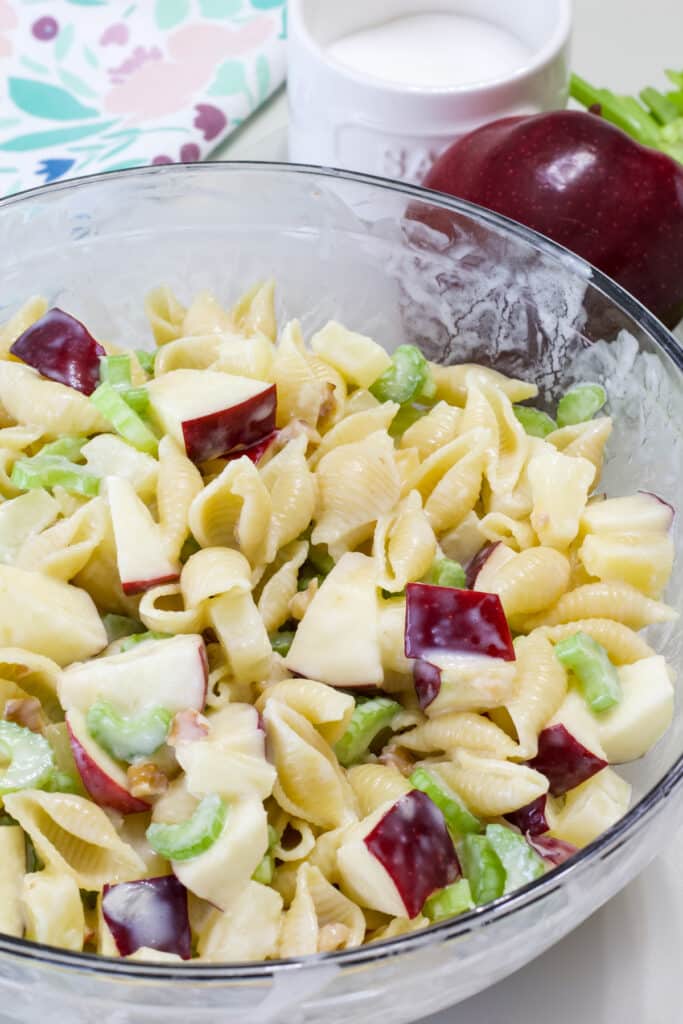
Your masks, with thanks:
M308 605L285 665L330 686L379 686L378 617L375 562L356 552L343 555Z

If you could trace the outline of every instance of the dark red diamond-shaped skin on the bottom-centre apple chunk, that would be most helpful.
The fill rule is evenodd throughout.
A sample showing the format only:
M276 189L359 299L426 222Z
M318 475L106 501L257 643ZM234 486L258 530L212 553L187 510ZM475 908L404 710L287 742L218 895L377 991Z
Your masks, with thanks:
M443 815L420 790L397 800L364 842L391 877L409 918L417 918L433 892L460 877Z

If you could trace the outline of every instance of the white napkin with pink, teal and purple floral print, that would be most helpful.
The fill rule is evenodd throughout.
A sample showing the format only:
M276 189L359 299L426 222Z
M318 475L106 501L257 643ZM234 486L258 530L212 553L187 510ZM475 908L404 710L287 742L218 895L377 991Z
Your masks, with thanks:
M0 196L201 160L285 78L286 0L0 0Z

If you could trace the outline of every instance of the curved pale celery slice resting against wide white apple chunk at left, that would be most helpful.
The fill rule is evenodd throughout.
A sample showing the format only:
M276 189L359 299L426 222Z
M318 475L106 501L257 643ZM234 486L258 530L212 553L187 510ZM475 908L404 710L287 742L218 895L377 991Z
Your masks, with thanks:
M151 708L127 718L108 700L98 700L86 715L92 738L113 758L129 764L155 754L163 745L172 719L166 708Z

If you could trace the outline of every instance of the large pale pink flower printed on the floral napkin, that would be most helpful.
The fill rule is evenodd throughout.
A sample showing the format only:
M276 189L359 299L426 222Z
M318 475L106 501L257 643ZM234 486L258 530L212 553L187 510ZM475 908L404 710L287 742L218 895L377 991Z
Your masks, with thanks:
M249 53L279 31L268 14L236 29L183 26L168 37L168 58L145 61L112 86L104 96L104 111L127 116L131 124L182 111L208 85L221 60Z

